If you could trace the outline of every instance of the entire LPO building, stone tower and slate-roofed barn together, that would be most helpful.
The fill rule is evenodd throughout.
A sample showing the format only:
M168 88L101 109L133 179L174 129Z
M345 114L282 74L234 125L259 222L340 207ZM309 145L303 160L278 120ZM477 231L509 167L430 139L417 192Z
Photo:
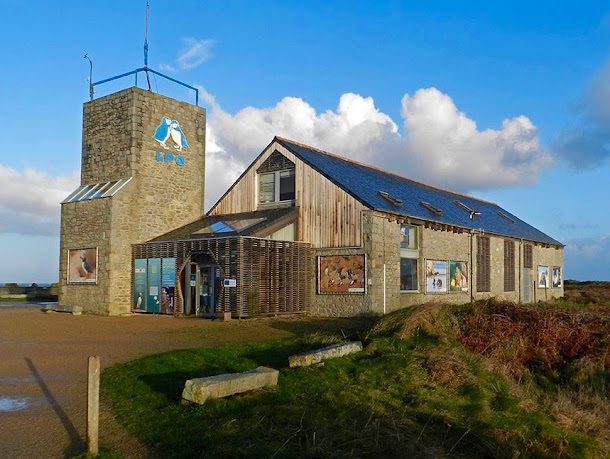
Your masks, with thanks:
M497 204L276 137L204 215L205 110L130 88L83 114L61 307L351 316L563 295L563 245Z

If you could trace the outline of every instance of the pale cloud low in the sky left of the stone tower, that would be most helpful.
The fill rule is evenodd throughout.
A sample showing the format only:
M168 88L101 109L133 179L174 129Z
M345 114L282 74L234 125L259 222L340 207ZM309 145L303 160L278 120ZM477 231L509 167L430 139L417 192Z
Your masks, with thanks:
M0 164L0 233L59 234L59 203L79 184L79 175L52 177Z

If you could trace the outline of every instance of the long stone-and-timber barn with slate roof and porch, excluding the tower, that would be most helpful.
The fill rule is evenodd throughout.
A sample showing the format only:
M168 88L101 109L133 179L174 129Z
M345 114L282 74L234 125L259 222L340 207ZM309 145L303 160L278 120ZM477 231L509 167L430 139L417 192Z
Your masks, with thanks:
M279 137L207 215L133 254L177 260L175 314L351 316L563 295L563 245L497 204Z

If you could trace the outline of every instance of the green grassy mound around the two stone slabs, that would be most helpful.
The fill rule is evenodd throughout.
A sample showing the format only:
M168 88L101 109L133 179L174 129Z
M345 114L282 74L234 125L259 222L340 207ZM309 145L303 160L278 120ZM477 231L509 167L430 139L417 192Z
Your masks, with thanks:
M603 443L562 424L535 378L516 381L450 334L397 333L391 315L362 353L287 368L289 355L339 336L173 352L104 372L102 395L144 444L167 457L599 457ZM388 325L389 324L389 325ZM441 327L442 328L442 327ZM404 330L402 330L404 331ZM449 337L447 337L449 336ZM264 365L276 388L204 406L184 381Z

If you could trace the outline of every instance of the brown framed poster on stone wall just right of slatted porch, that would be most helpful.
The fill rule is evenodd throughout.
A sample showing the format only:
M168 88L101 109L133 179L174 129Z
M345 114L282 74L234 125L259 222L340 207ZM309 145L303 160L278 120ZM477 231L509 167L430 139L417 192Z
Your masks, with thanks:
M366 260L362 255L318 257L318 293L364 293Z

